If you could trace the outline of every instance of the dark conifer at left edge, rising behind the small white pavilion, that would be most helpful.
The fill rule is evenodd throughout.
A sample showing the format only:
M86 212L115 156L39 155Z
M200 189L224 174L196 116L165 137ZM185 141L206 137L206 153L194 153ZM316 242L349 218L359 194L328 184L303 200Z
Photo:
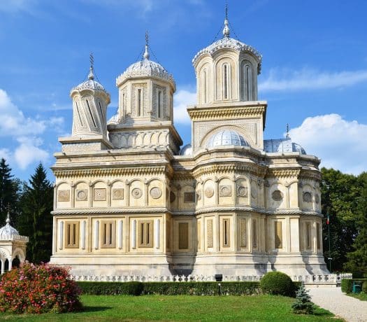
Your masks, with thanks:
M6 160L0 160L0 225L5 223L8 209L12 218L17 213L18 192L20 183L13 179L11 169Z

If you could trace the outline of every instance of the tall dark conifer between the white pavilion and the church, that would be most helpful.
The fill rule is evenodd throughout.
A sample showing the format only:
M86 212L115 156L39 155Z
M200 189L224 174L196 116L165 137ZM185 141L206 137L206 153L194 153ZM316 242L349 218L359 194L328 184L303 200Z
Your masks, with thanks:
M24 186L18 229L29 237L27 259L34 263L48 262L52 254L52 184L40 163L29 184Z

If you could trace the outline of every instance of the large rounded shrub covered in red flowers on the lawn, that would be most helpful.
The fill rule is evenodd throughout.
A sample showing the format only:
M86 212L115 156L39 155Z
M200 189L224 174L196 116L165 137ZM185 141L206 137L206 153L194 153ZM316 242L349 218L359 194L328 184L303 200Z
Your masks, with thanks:
M0 311L9 313L65 312L80 309L80 289L68 269L25 262L0 281Z

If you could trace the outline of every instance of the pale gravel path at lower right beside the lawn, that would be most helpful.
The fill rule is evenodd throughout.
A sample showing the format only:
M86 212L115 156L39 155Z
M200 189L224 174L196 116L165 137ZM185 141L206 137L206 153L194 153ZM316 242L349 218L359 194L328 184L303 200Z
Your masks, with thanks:
M367 322L367 301L347 296L338 288L309 288L312 302L347 322Z

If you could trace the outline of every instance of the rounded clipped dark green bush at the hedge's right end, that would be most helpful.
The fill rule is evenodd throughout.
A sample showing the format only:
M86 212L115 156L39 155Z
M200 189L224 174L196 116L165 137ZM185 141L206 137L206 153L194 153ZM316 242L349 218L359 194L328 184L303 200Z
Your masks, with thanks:
M282 272L268 272L260 280L260 288L263 293L273 295L295 295L296 286L292 279Z

